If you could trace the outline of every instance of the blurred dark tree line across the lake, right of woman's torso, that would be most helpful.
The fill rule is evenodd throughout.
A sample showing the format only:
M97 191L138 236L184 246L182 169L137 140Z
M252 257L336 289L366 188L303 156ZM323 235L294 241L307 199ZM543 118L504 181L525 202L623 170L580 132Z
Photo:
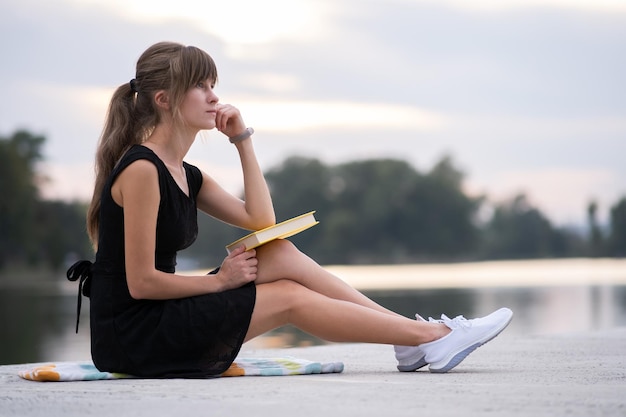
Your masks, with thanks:
M626 197L611 208L608 228L590 203L586 234L555 227L524 195L484 218L487 198L463 192L463 174L449 157L423 173L396 159L331 166L291 157L266 178L279 220L317 210L320 224L291 240L323 264L626 255ZM224 242L244 233L206 216L200 224L206 232L189 253L212 264Z

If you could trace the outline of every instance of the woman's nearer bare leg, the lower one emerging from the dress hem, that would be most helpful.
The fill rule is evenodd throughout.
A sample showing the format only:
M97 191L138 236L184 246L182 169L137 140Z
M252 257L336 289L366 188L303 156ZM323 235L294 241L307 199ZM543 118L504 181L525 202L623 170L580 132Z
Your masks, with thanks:
M328 297L291 280L257 285L257 298L246 341L292 324L333 342L417 346L446 335L440 323L426 323Z

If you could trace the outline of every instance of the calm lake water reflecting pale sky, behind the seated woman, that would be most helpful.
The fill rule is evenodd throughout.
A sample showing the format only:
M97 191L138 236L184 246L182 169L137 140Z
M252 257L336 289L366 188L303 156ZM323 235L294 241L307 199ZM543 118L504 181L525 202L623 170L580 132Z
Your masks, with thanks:
M572 259L441 265L330 266L380 304L408 317L481 316L501 306L515 312L507 334L518 336L626 326L626 260ZM48 285L0 287L0 365L89 359L89 301L75 334L76 291ZM323 343L286 327L249 348Z

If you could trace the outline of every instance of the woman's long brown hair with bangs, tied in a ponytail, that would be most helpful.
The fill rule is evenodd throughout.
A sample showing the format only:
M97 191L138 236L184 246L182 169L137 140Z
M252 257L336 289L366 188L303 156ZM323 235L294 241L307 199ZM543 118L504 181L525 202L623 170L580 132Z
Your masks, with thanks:
M96 151L96 181L87 212L87 232L98 247L100 200L104 186L122 155L147 139L160 122L154 96L167 91L173 117L187 91L200 81L217 82L213 59L193 46L173 42L152 45L139 57L135 79L117 88L107 112Z

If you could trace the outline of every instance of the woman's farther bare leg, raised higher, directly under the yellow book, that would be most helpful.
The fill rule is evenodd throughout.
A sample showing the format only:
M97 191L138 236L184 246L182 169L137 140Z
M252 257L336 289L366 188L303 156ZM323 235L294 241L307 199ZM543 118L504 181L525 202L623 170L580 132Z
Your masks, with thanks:
M259 260L257 285L288 279L329 298L349 301L381 313L399 316L322 268L288 240L275 240L257 248L257 259Z

